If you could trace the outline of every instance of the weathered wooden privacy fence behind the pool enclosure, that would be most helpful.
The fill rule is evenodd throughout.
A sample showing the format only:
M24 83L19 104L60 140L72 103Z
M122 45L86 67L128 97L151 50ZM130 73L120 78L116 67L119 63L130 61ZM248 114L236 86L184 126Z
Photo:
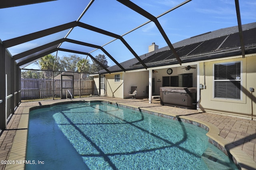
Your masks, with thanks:
M54 84L54 88L53 88ZM81 86L80 86L81 84ZM66 96L66 90L69 90L72 96L87 96L94 93L94 80L62 80L62 95ZM74 94L72 92L74 88ZM38 98L58 98L61 95L61 80L47 79L21 79L21 98L22 99L38 99Z

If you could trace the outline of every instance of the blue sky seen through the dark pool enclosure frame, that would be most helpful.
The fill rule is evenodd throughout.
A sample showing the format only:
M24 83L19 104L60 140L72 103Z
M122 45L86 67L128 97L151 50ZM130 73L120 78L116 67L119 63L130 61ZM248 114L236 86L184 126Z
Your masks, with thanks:
M26 35L71 21L76 21L89 0L57 0L27 6L0 9L0 39L2 41L14 37ZM172 9L184 0L132 0L135 4L150 12L154 16ZM242 24L256 22L256 1L240 0L240 13ZM4 17L2 17L4 16ZM158 18L171 43L183 39L214 31L225 27L237 25L236 8L234 0L192 0L164 16ZM80 20L83 23L105 29L118 35L124 35L128 31L147 22L148 19L130 10L116 0L95 0ZM64 37L69 30L49 35L8 48L12 55L49 43ZM156 45L165 47L167 44L153 22L150 22L131 33L123 36L138 55L148 52L148 45L155 42ZM126 47L114 38L99 33L75 27L68 38L104 45L104 49L119 63L134 56ZM109 44L107 44L109 43ZM107 44L107 45L106 45ZM92 52L91 47L63 43L61 48L73 49L83 52ZM56 53L52 53L56 55ZM104 54L100 50L91 53L93 56ZM68 56L70 53L58 52L58 56ZM86 57L84 55L79 55ZM108 59L108 57L107 57ZM109 65L114 63L108 59ZM37 68L34 64L26 68Z

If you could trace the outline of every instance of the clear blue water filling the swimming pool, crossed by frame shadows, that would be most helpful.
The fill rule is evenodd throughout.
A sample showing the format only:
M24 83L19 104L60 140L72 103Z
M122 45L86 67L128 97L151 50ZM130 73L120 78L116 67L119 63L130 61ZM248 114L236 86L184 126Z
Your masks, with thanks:
M182 121L104 103L35 109L29 115L26 170L236 169L208 143L206 133Z

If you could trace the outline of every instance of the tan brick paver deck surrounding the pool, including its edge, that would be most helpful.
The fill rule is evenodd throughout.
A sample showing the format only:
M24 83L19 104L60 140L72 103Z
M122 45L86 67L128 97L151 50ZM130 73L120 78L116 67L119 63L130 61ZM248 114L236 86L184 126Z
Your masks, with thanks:
M236 160L242 165L242 169L256 169L256 121L248 118L232 117L223 114L202 113L192 109L162 106L156 100L149 104L146 99L118 99L108 97L79 98L72 100L105 100L126 106L138 107L148 111L154 111L174 117L182 117L207 123L211 131L211 138L215 138L220 144L225 145ZM67 100L47 100L40 102L22 102L8 122L7 129L0 136L0 164L1 169L24 169L26 140L28 131L29 108L66 102ZM209 131L209 134L210 134ZM209 136L209 135L208 135Z

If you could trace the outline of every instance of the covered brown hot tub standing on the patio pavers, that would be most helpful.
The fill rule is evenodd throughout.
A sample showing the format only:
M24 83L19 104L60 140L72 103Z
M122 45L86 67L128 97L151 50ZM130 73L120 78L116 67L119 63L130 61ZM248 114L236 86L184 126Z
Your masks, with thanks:
M196 109L196 87L160 87L160 103L186 109Z

